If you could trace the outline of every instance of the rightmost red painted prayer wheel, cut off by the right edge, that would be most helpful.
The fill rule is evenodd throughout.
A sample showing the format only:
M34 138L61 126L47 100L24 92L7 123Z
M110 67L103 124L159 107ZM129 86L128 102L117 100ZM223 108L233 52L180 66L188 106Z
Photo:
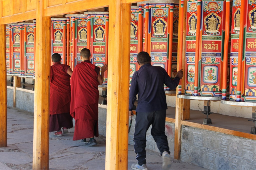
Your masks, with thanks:
M231 101L256 101L256 2L234 0L230 57Z

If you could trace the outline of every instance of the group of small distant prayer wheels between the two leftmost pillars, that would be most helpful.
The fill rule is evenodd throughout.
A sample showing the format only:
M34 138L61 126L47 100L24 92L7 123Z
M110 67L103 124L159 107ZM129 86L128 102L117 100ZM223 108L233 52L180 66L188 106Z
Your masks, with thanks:
M35 76L35 21L6 26L7 73Z

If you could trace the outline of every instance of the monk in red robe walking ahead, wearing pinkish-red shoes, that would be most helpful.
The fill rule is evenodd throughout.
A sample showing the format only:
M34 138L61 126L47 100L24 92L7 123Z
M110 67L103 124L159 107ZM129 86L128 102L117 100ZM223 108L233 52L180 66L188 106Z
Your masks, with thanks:
M51 57L53 66L50 73L50 132L63 136L68 129L73 127L73 118L70 116L70 66L61 64L61 56L55 53Z

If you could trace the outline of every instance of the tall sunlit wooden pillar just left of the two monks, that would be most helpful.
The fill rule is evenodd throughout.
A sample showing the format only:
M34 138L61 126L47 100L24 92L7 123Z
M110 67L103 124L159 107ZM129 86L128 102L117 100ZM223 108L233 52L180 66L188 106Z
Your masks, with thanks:
M51 18L44 17L44 0L36 1L36 63L33 169L49 169L49 94Z

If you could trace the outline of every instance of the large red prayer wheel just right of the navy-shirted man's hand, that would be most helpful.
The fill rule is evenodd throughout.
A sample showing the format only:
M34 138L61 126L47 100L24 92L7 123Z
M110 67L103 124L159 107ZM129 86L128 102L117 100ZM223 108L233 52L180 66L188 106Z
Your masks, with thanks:
M222 46L225 35L224 1L203 0L187 1L187 3L185 94L221 96L221 66L224 50ZM202 9L199 11L201 13L200 18L197 16L198 9ZM197 32L200 22L202 28ZM197 36L199 36L199 42L196 42ZM201 48L198 49L199 55L196 56L196 46L199 44L201 44ZM196 62L198 68L195 68Z

